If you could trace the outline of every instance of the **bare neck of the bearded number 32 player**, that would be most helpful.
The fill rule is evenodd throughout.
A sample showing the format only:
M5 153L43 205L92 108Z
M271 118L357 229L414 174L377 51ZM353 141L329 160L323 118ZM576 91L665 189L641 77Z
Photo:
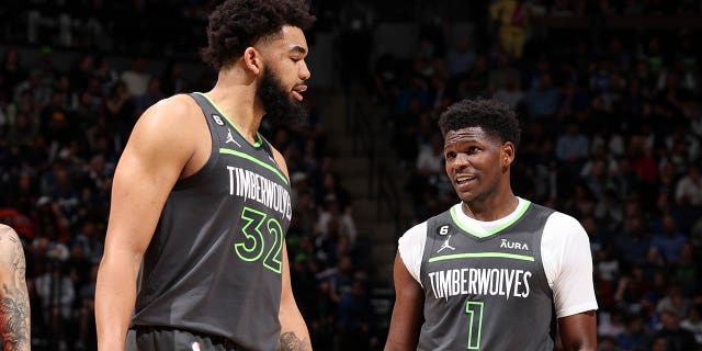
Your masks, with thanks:
M256 97L257 87L251 75L235 66L222 69L215 87L206 93L250 143L256 143L256 134L265 113Z

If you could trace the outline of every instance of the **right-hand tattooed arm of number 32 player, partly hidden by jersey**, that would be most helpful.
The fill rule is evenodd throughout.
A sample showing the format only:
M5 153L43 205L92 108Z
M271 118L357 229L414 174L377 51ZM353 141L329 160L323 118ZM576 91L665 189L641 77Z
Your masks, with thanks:
M281 152L273 149L273 158L280 169L287 176L287 166ZM281 351L309 351L312 350L312 341L309 340L309 331L303 315L297 308L295 297L293 296L293 286L290 281L290 261L287 259L287 249L283 242L283 286L281 293L281 309L278 318L281 322L280 344Z

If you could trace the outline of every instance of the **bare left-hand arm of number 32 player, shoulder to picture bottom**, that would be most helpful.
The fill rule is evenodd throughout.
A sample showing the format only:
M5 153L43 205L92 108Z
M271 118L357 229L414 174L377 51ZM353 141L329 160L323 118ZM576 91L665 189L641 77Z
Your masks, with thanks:
M183 112L190 111L184 99L174 97L145 112L115 170L95 286L100 350L124 350L144 252L168 194L194 152L194 132L200 131Z

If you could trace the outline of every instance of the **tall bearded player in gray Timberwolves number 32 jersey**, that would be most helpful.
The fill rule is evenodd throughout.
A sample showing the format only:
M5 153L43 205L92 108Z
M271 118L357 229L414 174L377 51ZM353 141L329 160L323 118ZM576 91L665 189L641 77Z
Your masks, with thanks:
M100 350L125 350L125 336L127 350L312 348L285 250L290 178L258 129L303 115L314 20L303 0L225 1L202 52L214 88L139 117L114 176Z

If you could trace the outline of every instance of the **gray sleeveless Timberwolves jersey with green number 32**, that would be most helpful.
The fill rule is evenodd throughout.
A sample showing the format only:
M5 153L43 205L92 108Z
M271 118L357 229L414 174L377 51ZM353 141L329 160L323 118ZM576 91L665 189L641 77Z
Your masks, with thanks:
M250 144L205 95L191 97L207 121L212 154L166 201L145 252L132 325L275 350L290 184L265 139L257 134Z

